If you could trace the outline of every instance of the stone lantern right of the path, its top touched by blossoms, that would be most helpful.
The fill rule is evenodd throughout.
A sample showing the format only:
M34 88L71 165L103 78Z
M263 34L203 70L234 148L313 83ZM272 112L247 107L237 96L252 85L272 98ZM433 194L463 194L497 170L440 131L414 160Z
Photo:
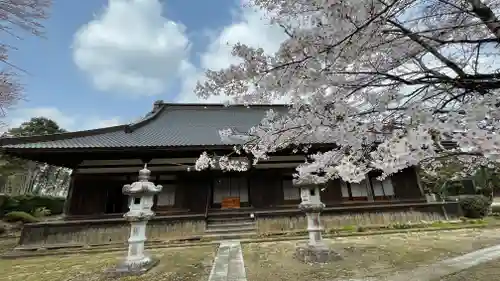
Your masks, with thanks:
M320 186L296 182L294 185L300 188L302 202L299 204L299 209L306 214L309 232L308 242L297 246L295 257L308 263L326 263L340 259L337 253L328 248L321 236L323 227L320 222L320 213L325 208L325 204L321 202Z

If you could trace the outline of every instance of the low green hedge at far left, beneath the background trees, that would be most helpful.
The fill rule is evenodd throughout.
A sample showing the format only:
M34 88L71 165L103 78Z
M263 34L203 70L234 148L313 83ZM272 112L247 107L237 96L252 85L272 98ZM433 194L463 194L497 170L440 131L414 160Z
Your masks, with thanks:
M61 214L64 209L64 198L36 195L7 196L0 206L0 211L4 214L14 211L35 214L39 208L46 208L53 215Z

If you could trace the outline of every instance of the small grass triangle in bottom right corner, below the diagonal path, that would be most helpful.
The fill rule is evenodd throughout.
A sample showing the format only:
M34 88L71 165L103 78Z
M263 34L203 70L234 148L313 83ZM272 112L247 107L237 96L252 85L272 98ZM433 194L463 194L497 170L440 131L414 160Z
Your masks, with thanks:
M491 281L498 280L500 275L500 260L493 260L464 271L448 275L434 281Z

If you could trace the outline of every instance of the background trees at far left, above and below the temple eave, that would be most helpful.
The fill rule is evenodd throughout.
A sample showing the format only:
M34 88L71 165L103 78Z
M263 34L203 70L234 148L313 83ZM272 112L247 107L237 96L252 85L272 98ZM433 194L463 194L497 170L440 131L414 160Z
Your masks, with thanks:
M11 128L8 135L12 137L25 137L35 135L47 135L64 133L66 130L45 117L34 117L30 121L22 123L17 128ZM66 168L50 166L47 164L26 161L6 155L2 156L3 165L0 169L2 176L10 177L11 186L16 194L63 194L69 184L70 170ZM22 180L20 180L20 178Z

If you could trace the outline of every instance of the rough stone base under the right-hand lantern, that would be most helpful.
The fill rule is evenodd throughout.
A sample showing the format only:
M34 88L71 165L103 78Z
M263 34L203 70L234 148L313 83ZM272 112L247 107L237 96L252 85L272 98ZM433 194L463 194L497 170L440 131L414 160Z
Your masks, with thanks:
M341 260L342 257L325 244L299 244L295 249L294 258L304 263L329 263Z

